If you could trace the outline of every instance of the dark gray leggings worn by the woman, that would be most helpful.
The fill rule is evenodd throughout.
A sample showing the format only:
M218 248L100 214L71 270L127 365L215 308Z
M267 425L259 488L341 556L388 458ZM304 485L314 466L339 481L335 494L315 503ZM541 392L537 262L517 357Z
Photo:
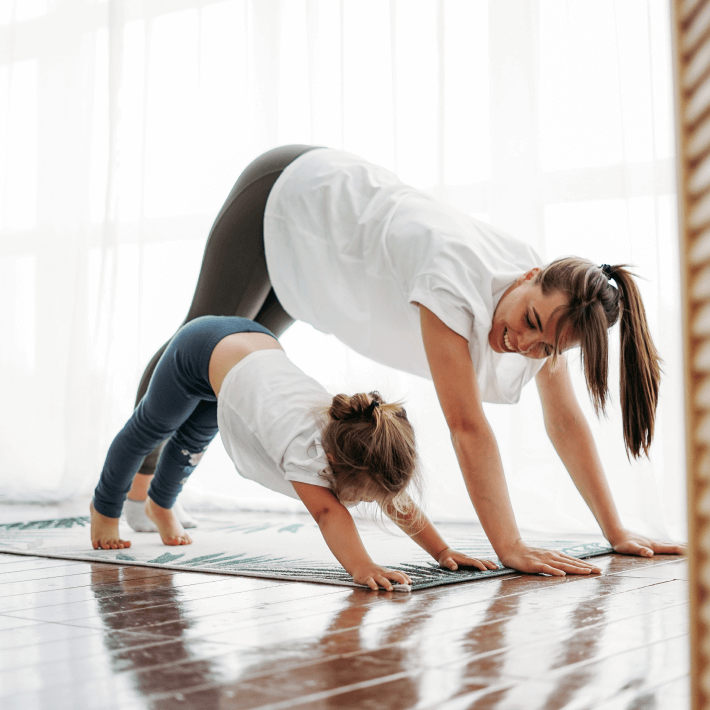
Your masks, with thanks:
M210 230L195 295L181 326L200 316L241 316L260 323L278 338L294 322L276 298L266 270L264 210L284 168L316 147L274 148L239 176ZM138 386L136 406L169 342L148 363ZM138 473L155 473L164 443L145 457Z

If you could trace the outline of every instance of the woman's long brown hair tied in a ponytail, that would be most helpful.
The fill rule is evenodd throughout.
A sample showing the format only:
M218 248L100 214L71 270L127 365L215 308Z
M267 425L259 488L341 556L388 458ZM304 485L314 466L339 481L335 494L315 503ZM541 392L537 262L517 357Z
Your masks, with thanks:
M569 305L555 334L555 355L563 332L579 342L587 390L594 411L604 412L609 388L609 337L607 330L620 320L621 415L627 453L639 457L653 439L661 381L660 358L653 344L641 294L626 264L597 266L578 257L557 259L536 277L542 293L563 291ZM616 284L616 288L611 282Z

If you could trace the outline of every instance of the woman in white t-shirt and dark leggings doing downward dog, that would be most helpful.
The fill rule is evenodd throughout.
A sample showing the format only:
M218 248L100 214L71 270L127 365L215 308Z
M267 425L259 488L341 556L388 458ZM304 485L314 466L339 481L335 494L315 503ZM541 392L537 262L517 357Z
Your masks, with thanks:
M287 146L244 171L215 221L186 321L205 314L252 318L277 336L304 320L374 360L431 377L471 501L508 567L585 571L521 539L483 411L483 401L517 402L533 376L548 435L614 549L683 551L621 524L563 354L581 348L587 387L603 410L607 329L620 319L624 440L633 456L647 454L659 358L621 266L565 259L544 267L530 246L383 168L338 150ZM157 453L130 497L145 497Z

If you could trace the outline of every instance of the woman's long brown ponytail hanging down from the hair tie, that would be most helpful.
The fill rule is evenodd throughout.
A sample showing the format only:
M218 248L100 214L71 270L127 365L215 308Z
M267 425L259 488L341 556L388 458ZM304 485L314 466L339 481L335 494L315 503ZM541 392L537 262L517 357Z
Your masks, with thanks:
M633 456L641 452L648 456L656 424L660 358L633 275L623 266L612 266L609 278L616 282L621 301L620 385L624 442Z

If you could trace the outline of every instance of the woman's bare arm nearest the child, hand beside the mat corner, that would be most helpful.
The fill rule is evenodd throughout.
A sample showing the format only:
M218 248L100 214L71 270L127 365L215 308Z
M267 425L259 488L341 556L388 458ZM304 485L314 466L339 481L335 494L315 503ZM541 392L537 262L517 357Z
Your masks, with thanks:
M563 576L599 571L584 560L522 541L498 445L483 411L468 341L424 306L419 311L429 369L466 488L498 559L506 567L528 573Z

